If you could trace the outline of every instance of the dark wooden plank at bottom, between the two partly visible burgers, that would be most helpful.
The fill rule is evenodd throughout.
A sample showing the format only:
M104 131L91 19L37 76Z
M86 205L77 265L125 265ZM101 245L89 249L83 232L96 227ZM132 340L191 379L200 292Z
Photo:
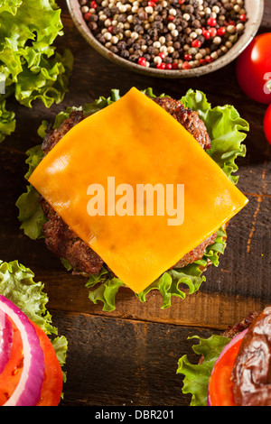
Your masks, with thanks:
M83 314L55 314L69 336L67 383L63 406L179 406L182 375L179 357L189 353L188 336L208 337L210 330L145 323ZM70 378L70 376L72 378Z

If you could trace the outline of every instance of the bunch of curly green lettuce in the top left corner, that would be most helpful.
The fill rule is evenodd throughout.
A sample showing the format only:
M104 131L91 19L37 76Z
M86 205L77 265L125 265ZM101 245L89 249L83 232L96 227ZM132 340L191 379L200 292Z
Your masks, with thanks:
M53 42L63 35L61 9L54 0L4 0L0 5L0 143L15 129L6 99L32 107L60 103L68 91L73 57Z

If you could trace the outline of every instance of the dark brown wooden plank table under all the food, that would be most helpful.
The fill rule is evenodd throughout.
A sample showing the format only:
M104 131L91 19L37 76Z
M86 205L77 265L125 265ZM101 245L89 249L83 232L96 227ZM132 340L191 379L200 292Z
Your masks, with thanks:
M68 381L63 406L188 405L182 395L182 377L176 375L177 361L188 353L188 336L210 336L245 317L252 309L271 303L271 149L263 133L266 106L246 97L238 88L235 63L201 78L147 78L119 68L94 51L75 29L64 0L59 0L65 35L57 45L69 46L75 64L70 92L61 105L33 109L10 101L16 112L15 133L0 146L0 257L19 260L31 268L36 281L43 281L48 293L53 323L67 336ZM271 5L266 0L260 32L271 31ZM232 104L250 124L246 140L248 154L239 164L239 183L249 199L229 224L228 246L220 267L210 267L201 290L185 300L173 299L171 309L162 310L161 296L151 293L145 303L135 295L117 295L117 309L102 311L101 304L88 299L85 280L71 276L45 247L19 230L16 199L24 191L24 152L40 143L37 128L42 119L53 120L66 106L80 106L111 88L121 94L135 86L154 88L180 98L189 89L204 91L212 106Z

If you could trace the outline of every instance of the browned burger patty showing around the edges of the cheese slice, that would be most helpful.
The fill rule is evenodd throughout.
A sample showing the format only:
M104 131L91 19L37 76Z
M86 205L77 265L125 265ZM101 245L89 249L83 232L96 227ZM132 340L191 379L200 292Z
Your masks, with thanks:
M193 135L197 142L200 143L204 150L210 149L210 136L197 112L185 108L180 101L170 97L156 97L154 98L154 102L162 106L174 119L182 124L184 128ZM70 117L65 119L58 128L53 129L49 127L42 142L42 151L44 155L50 152L61 138L84 118L85 116L82 112L73 111ZM98 274L103 266L103 261L98 254L70 230L69 226L64 223L62 218L44 198L40 197L40 202L44 215L48 219L43 225L42 231L45 237L45 244L51 252L69 261L73 269L78 272L83 272L86 275L92 273ZM213 244L215 239L216 233L193 249L192 252L185 254L175 266L183 267L201 259L206 247Z

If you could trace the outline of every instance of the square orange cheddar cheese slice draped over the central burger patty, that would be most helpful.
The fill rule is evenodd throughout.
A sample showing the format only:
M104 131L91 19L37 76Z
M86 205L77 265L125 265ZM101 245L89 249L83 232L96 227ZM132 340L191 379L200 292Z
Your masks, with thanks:
M70 129L29 181L135 293L248 202L136 88Z

